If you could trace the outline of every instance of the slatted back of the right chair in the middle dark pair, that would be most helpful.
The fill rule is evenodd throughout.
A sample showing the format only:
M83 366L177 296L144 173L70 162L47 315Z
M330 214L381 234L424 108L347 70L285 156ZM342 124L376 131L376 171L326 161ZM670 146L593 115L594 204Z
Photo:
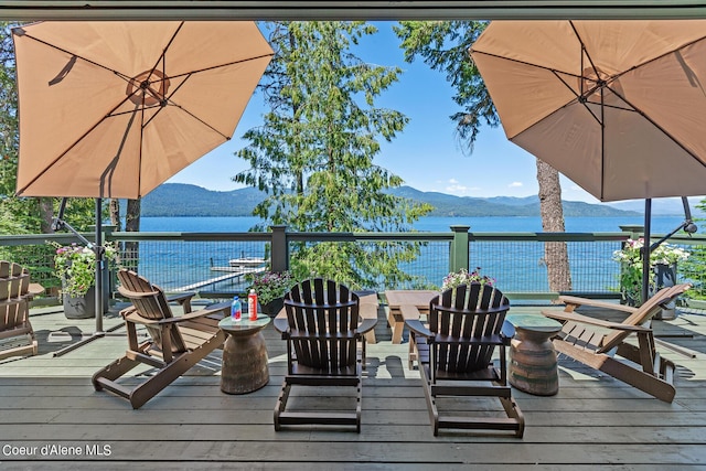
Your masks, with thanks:
M509 309L510 301L499 289L477 282L435 297L429 303L429 330L436 334L432 367L453 373L488 367L494 345L466 342L500 334Z

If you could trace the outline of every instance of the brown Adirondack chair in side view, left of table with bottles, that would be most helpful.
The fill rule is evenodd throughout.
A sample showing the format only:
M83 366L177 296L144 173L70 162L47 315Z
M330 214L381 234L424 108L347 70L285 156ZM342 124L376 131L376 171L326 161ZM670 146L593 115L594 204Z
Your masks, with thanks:
M218 329L218 321L228 306L191 312L191 304L185 302L184 314L174 317L158 286L125 269L118 271L118 291L132 301L132 307L120 312L127 328L128 350L125 356L98 371L93 384L96 390L108 389L127 398L137 409L223 345L225 333ZM150 334L142 343L138 342L138 325ZM158 371L137 386L117 382L140 364Z

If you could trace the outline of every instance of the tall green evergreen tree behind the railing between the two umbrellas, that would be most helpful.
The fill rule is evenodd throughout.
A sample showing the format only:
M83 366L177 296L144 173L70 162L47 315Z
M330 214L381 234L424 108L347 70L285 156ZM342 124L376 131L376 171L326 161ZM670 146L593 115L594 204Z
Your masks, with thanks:
M375 107L399 68L371 65L353 53L376 29L364 22L270 23L275 57L260 82L269 106L264 126L248 130L236 156L250 169L235 180L268 196L254 214L259 228L300 232L406 231L430 207L385 192L399 176L374 163L379 139L392 140L408 119ZM319 243L292 254L299 277L322 276L354 287L396 286L398 268L418 247L400 243Z

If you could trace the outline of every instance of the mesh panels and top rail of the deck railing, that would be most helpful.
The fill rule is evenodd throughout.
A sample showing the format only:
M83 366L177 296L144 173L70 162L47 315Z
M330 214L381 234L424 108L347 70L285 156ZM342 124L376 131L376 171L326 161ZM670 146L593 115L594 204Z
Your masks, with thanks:
M280 244L286 248L281 250L292 258L301 244L309 247L321 243L356 244L375 256L384 256L381 247L385 245L417 244L417 257L398 266L408 279L394 286L379 279L364 287L378 291L440 287L453 263L453 251L459 248L454 248L453 233L282 234ZM620 266L612 260L612 253L629 236L627 233L468 233L466 263L471 270L480 267L482 275L495 278L504 292L546 295L548 299L545 244L566 242L573 290L589 295L618 293ZM203 297L243 292L248 286L245 272L266 269L272 246L278 244L272 233L109 233L106 237L119 244L122 266L137 268L168 291L193 290ZM75 238L66 234L0 236L0 258L30 267L33 280L45 287L57 287L61 283L53 272L54 248L47 240L66 245ZM693 282L694 291L706 295L706 270L703 269L706 236L675 236L670 243L702 254L700 258L694 257L677 268L680 279Z

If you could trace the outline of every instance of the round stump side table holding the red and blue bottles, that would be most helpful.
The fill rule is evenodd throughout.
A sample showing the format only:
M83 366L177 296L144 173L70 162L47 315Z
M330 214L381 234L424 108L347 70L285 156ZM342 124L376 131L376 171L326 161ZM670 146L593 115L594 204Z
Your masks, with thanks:
M256 321L243 318L235 322L227 317L218 327L228 338L223 345L221 390L227 394L246 394L259 389L269 382L267 347L261 330L270 323L269 315L260 314Z

